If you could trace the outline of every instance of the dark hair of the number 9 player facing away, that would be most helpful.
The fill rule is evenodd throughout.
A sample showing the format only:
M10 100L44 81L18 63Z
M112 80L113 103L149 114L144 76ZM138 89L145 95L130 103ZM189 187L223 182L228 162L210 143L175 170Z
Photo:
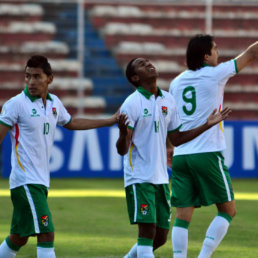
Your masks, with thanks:
M211 54L214 39L210 35L198 34L192 37L186 51L186 63L190 70L203 67L204 55Z

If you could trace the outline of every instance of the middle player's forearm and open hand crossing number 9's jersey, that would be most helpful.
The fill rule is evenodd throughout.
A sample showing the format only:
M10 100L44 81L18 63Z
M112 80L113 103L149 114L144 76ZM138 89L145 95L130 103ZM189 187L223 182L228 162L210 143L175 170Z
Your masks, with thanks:
M207 122L201 126L198 126L192 130L188 131L174 131L173 133L168 134L169 140L174 146L181 145L188 141L191 141L195 137L199 136L204 131L210 129L215 124L219 123L222 120L225 120L231 113L231 109L226 107L221 112L216 113L217 110L214 109L212 114L208 117Z

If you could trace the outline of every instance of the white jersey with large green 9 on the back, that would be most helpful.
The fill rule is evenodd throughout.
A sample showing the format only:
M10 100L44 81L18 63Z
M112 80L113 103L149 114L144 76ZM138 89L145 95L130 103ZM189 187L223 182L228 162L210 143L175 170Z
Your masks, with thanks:
M183 124L180 131L202 125L215 108L218 111L223 109L225 85L236 73L236 61L230 60L216 67L186 70L171 82L169 92L176 100ZM225 148L224 125L220 122L192 141L176 147L174 156L222 151Z

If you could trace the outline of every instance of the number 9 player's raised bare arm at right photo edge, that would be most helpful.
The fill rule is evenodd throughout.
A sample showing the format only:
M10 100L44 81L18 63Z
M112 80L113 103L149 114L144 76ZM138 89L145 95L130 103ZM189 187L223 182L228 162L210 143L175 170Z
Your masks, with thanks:
M251 64L258 58L258 41L250 45L243 53L237 56L237 70L240 72L244 67Z

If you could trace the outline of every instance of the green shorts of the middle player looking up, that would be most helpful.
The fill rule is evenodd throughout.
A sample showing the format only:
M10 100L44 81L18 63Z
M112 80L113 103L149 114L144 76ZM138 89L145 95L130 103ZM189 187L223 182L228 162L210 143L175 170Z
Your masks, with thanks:
M171 207L168 184L133 184L125 191L131 224L155 223L160 228L169 229Z

